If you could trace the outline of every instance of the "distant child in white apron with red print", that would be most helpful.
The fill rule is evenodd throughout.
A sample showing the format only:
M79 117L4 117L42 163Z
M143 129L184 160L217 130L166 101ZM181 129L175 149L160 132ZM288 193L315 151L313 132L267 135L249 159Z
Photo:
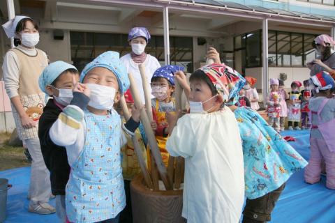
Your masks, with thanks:
M301 82L295 81L291 84L291 89L289 95L288 103L288 130L301 130L299 128L299 122L301 117L301 93L299 88L301 87Z

